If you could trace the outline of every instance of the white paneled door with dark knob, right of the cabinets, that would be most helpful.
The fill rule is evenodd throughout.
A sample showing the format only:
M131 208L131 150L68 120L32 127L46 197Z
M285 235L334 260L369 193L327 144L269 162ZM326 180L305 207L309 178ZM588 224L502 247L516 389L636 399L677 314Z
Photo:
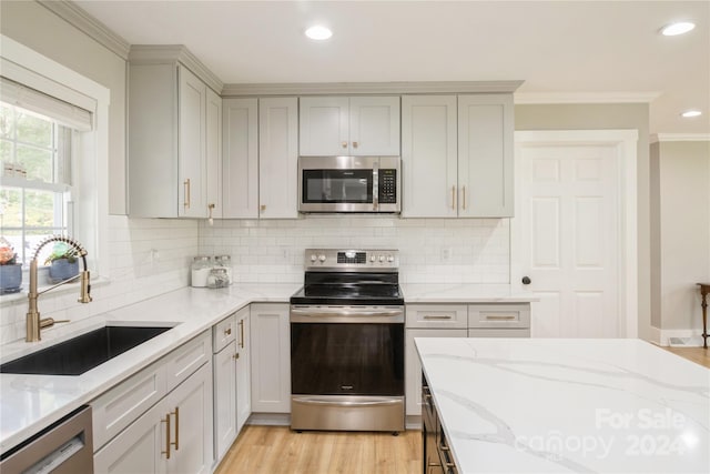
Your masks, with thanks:
M532 336L622 335L616 147L524 147L518 159Z

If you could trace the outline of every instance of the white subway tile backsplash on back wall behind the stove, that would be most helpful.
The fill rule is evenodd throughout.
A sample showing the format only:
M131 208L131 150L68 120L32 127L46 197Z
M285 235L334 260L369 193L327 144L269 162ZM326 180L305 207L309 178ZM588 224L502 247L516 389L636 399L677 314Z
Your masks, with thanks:
M508 283L508 219L317 216L200 224L200 251L229 254L239 282L302 282L304 249L398 249L404 283Z

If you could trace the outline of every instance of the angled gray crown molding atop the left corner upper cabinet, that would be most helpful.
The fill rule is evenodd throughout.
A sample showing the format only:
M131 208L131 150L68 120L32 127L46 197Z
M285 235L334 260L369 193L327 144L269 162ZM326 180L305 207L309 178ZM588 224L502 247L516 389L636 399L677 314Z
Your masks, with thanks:
M181 62L217 94L224 83L182 44L131 44L128 56L132 64L168 64Z

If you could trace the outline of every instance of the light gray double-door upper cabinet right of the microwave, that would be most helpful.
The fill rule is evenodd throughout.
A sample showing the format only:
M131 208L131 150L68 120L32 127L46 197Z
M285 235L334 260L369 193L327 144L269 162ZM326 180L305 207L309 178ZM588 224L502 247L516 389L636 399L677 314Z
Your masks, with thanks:
M513 133L511 94L403 97L403 216L513 216Z

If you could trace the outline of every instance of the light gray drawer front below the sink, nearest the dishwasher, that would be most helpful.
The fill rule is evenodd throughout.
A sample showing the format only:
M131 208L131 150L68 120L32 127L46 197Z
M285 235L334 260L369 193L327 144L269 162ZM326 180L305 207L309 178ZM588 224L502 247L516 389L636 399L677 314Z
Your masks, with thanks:
M162 362L158 362L91 402L94 452L166 393L165 371Z

